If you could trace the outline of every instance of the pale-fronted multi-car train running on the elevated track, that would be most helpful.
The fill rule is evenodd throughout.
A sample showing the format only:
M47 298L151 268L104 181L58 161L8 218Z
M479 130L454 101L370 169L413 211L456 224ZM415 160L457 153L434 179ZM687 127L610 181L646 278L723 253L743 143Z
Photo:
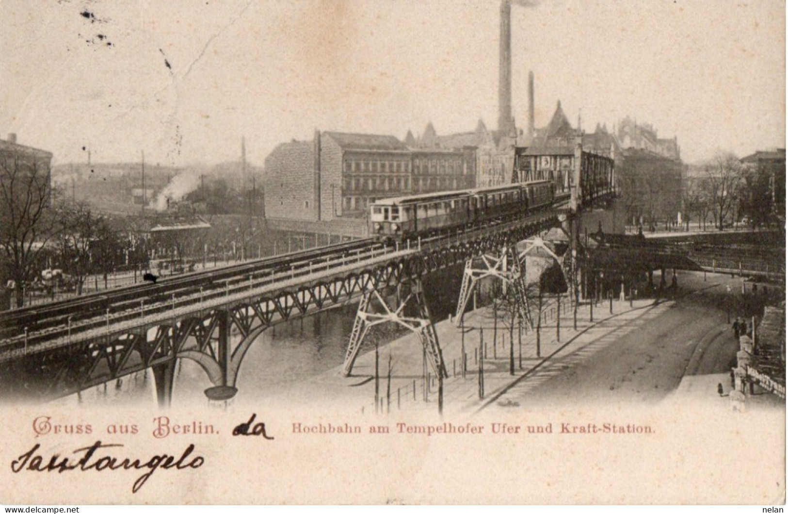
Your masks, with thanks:
M370 235L381 240L426 237L446 229L525 215L552 203L555 184L534 181L379 199L370 205Z

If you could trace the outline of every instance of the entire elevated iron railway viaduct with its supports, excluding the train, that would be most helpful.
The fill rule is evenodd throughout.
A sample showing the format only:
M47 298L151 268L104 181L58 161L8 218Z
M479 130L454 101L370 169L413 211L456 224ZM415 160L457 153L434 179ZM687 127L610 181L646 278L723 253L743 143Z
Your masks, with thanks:
M446 371L422 277L466 265L458 309L474 287L474 270L522 290L516 243L558 225L578 240L582 210L615 196L613 163L578 147L571 177L554 202L484 225L444 230L432 237L385 243L363 239L297 251L235 266L171 277L0 313L0 365L43 376L42 398L65 396L151 368L159 403L172 397L177 359L192 359L214 385L212 400L234 396L243 357L277 323L359 301L345 359L352 371L370 326L395 322L418 333L439 378ZM574 228L573 228L574 227ZM571 255L567 270L577 270ZM567 266L568 263L568 266ZM576 272L576 271L574 271ZM392 297L396 300L393 300Z

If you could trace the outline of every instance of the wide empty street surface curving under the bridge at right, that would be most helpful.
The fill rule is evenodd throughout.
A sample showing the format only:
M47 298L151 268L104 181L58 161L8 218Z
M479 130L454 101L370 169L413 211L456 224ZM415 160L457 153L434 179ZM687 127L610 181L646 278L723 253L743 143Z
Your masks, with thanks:
M722 275L680 274L683 296L675 302L646 307L628 322L611 319L617 328L597 341L596 350L567 348L545 370L526 377L496 403L535 407L556 403L656 403L694 374L729 373L737 343L727 323L721 296L740 279ZM540 376L541 375L541 376ZM538 382L534 385L533 382Z

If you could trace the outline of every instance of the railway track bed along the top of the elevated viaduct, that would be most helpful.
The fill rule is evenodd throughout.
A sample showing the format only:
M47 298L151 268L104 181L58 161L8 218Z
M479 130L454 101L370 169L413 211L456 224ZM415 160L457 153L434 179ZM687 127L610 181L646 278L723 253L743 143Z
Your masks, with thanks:
M536 221L544 209L530 214ZM418 238L419 249L478 237L491 230L502 230L521 220L488 220L484 226L454 228L433 237ZM157 284L129 285L102 293L61 300L51 304L25 307L0 313L0 361L28 352L49 351L90 341L96 337L128 328L151 325L180 317L203 308L214 308L248 296L253 290L271 285L288 285L300 277L333 271L349 264L390 255L395 251L416 249L417 240L406 244L384 244L374 238L295 251L266 259L247 261L213 270L168 277Z

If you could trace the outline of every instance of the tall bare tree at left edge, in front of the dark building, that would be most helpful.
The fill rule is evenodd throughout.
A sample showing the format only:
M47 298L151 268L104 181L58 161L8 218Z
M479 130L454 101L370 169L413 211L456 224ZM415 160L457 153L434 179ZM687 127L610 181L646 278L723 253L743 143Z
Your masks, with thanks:
M0 151L0 257L17 307L24 305L23 288L35 277L40 252L57 233L50 159L47 152Z

